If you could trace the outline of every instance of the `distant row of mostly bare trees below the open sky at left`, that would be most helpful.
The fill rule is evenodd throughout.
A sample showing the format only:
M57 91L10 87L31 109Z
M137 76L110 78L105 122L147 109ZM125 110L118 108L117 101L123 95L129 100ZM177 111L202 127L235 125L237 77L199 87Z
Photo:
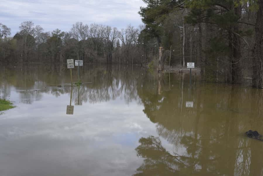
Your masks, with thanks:
M151 40L143 35L145 26L128 25L118 30L111 26L77 22L68 32L44 29L32 21L20 24L11 37L11 29L0 23L0 60L6 63L66 62L145 64L154 50Z

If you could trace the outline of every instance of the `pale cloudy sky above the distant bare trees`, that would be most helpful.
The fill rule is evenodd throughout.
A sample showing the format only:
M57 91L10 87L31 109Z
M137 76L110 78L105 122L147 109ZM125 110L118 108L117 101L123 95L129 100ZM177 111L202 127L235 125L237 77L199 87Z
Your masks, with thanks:
M19 31L23 21L33 21L44 31L70 31L72 25L98 23L125 28L142 24L138 14L142 0L0 0L0 23Z

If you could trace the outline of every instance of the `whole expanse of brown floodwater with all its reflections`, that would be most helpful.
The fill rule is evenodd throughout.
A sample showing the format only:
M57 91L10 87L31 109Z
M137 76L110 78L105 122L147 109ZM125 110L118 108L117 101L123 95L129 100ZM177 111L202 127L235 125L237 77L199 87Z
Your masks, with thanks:
M263 142L244 135L263 134L262 90L138 66L84 65L73 89L66 66L0 74L17 106L0 115L1 176L263 175Z

